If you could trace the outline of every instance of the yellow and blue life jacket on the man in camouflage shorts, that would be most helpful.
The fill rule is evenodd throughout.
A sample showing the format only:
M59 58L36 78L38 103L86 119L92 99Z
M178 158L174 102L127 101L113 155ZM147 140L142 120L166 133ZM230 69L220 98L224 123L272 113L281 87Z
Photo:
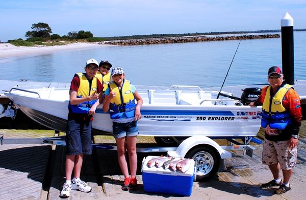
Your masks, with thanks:
M268 86L263 103L262 127L265 128L269 124L270 128L285 129L292 123L289 110L283 106L283 99L290 88L291 85L285 84L271 96L271 86Z

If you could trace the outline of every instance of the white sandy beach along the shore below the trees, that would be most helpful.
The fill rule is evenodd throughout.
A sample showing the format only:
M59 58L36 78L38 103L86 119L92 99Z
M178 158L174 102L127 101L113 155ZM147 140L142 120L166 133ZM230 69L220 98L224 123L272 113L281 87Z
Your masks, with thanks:
M28 54L45 54L55 51L98 48L107 45L99 45L98 43L75 42L68 45L52 46L52 47L16 47L10 43L0 43L0 58L24 56Z

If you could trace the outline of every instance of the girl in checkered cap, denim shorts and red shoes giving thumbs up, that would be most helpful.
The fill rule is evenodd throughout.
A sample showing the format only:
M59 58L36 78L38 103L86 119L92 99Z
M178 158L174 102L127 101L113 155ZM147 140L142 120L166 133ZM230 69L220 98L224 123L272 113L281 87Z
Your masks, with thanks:
M103 111L110 112L113 120L113 134L117 144L118 161L124 175L122 190L138 189L136 180L137 155L136 140L138 135L137 121L140 120L142 98L129 80L124 79L122 68L112 69L113 81L109 83L104 95ZM136 104L136 101L137 104ZM129 155L131 177L125 159L125 143Z

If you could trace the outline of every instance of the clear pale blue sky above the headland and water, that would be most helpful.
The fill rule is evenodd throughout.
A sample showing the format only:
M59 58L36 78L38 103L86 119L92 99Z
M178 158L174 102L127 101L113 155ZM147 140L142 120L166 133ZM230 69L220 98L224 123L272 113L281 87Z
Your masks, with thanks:
M306 28L305 0L5 0L0 40L23 38L34 23L53 34L90 31L94 36L280 29L286 12Z

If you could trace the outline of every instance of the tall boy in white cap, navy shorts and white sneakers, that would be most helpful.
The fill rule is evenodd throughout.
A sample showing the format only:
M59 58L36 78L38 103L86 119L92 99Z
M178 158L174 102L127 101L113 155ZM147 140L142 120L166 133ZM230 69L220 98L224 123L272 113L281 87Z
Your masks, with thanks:
M66 134L66 182L63 185L61 197L69 197L71 190L91 191L91 187L80 180L80 174L84 154L92 153L93 117L90 108L103 90L101 82L95 76L98 67L95 59L87 60L85 73L75 74L71 81ZM71 180L72 171L73 179Z

